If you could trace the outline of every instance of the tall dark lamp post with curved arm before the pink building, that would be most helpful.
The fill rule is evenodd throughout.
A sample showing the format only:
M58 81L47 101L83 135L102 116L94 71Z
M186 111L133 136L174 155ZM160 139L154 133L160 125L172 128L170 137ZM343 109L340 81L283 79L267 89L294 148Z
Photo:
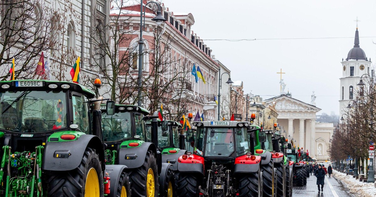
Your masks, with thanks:
M164 21L167 21L163 16L161 12L161 6L156 3L156 2L148 2L145 7L149 3L155 3L158 7L157 15L152 19L152 21L155 21L155 23L159 26L161 25ZM142 87L142 70L143 70L143 58L142 58L142 53L143 53L143 45L144 45L144 40L142 38L142 31L144 28L143 22L145 22L145 11L143 8L143 0L141 0L140 3L140 38L138 41L138 87L137 87L137 105L141 107L141 87ZM143 16L144 16L144 21L143 21Z

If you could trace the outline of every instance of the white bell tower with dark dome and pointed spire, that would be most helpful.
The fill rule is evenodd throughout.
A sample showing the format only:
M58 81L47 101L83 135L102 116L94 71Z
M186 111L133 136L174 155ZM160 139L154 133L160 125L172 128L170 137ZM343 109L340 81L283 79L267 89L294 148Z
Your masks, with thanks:
M346 118L347 105L352 104L351 100L355 92L359 90L357 84L363 74L370 73L371 58L367 58L363 49L359 46L358 27L355 31L354 47L350 49L346 60L342 59L342 78L340 78L340 117Z

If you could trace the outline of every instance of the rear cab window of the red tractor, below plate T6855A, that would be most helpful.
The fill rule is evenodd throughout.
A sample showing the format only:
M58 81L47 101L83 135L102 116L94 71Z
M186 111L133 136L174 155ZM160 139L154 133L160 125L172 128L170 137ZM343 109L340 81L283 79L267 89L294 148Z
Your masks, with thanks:
M204 139L205 136L205 139ZM230 127L204 127L197 129L196 145L194 152L204 156L228 157L234 151L233 128Z

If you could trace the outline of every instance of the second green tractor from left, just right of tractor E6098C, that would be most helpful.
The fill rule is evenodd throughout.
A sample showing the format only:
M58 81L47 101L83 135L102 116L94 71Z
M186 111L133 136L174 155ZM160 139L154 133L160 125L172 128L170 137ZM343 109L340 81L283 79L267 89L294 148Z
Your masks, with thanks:
M158 147L159 135L162 135L158 131L158 116L148 115L149 111L143 107L120 104L115 105L114 115L103 113L106 163L127 166L133 196L172 197L173 165L162 162L162 151ZM156 129L147 129L147 122Z

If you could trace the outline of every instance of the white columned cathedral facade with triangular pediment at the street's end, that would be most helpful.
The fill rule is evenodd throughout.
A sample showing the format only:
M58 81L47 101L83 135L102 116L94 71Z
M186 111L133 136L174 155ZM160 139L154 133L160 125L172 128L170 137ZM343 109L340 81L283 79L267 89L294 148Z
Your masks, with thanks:
M280 95L264 101L265 105L275 106L278 124L287 131L286 138L293 140L299 147L316 152L316 113L321 109L299 101L291 96ZM284 134L282 131L282 134Z

